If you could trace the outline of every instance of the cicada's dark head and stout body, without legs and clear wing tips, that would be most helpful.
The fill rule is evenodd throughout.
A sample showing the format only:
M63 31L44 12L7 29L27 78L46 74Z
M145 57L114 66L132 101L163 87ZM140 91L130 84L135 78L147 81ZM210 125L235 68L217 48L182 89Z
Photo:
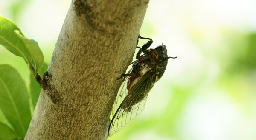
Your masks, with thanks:
M136 98L130 98L134 96L129 96L127 100L133 100L125 110L131 111L131 107L141 100L147 98L148 93L153 87L154 83L157 82L162 76L166 69L167 65L167 50L165 45L160 45L155 49L150 49L148 54L142 55L138 58L136 62L133 64L133 69L128 77L127 89L128 92L132 91L131 94L136 94ZM145 76L145 77L143 77ZM142 81L142 78L143 79ZM138 82L143 82L146 84L143 89L136 88L138 90L134 90L133 88L138 84Z

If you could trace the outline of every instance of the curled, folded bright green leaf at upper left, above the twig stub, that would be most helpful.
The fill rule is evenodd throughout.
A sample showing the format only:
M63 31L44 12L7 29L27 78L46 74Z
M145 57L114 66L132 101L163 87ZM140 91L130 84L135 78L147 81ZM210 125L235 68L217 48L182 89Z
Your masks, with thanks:
M23 57L34 76L44 64L44 56L38 44L24 37L11 20L1 16L0 44L16 56Z

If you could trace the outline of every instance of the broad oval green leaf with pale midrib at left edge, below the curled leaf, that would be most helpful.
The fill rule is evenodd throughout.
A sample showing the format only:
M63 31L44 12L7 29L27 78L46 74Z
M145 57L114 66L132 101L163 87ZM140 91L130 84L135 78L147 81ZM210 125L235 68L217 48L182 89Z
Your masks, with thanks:
M24 137L31 120L25 82L17 71L0 65L0 109L19 137Z

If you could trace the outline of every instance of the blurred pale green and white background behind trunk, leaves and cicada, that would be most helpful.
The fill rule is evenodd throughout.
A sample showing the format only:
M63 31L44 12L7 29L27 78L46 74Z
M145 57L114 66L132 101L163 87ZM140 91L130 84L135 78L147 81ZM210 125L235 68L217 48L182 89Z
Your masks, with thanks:
M0 15L35 39L49 63L70 3L0 0ZM150 0L140 34L178 57L144 112L108 140L256 140L255 0ZM25 62L3 47L0 64L29 84Z

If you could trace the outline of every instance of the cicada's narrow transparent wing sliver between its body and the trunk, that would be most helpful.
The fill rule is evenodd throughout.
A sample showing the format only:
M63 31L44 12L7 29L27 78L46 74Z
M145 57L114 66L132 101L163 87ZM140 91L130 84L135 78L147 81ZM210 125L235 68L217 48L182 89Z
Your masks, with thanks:
M127 72L127 73L130 73L132 70L132 68ZM116 113L116 110L118 109L118 107L120 106L120 104L122 103L122 101L125 99L125 96L128 94L128 91L127 91L127 77L125 77L125 81L122 82L119 90L118 90L118 93L116 95L116 100L113 104L113 108L112 108L112 112L111 112L111 115L110 115L110 119L113 118L113 115Z

